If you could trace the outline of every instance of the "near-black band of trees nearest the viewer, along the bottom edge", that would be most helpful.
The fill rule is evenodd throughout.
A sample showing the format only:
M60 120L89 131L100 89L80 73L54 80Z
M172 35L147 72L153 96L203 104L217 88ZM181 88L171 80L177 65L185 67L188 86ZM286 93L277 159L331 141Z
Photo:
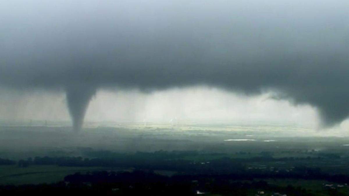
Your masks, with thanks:
M312 196L301 187L279 187L265 181L234 181L231 175L175 175L166 177L152 172L93 172L68 175L54 184L0 186L0 195L195 195L196 191L247 196L263 190L289 196ZM336 190L324 190L329 195L341 196Z

